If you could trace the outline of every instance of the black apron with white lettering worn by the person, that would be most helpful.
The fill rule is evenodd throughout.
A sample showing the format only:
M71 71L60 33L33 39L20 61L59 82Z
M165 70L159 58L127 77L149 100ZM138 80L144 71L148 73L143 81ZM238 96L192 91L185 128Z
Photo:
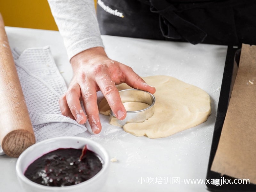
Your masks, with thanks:
M98 0L102 35L256 44L255 0Z

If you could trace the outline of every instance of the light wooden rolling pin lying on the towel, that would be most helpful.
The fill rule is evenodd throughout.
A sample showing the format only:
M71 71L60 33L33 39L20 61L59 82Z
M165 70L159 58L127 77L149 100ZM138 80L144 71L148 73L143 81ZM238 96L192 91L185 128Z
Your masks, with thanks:
M1 14L0 142L4 153L11 157L19 157L36 142Z

